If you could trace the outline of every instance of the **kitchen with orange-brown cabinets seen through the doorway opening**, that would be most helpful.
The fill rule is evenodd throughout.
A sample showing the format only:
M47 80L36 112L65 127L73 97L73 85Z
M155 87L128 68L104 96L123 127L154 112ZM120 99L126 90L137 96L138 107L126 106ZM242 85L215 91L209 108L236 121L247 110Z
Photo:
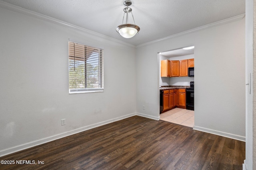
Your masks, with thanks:
M194 46L159 53L160 119L194 127Z

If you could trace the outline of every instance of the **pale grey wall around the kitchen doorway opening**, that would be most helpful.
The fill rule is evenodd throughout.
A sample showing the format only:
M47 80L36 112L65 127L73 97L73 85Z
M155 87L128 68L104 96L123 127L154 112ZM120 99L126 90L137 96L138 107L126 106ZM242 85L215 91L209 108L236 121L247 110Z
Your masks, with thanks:
M195 129L245 140L245 20L223 23L137 47L139 113L159 116L157 53L193 44Z

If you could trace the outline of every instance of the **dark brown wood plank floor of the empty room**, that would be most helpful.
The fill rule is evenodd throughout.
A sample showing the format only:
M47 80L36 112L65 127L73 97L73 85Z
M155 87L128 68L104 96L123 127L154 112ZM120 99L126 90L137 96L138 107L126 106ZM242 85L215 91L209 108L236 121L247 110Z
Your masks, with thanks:
M1 157L31 164L0 169L242 170L244 159L244 142L133 116Z

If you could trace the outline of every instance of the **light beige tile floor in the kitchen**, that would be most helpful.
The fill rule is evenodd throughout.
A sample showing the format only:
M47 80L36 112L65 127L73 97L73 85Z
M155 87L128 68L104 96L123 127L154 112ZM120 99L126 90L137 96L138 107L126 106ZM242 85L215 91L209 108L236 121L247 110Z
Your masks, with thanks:
M160 120L188 127L194 127L194 110L174 108L160 114Z

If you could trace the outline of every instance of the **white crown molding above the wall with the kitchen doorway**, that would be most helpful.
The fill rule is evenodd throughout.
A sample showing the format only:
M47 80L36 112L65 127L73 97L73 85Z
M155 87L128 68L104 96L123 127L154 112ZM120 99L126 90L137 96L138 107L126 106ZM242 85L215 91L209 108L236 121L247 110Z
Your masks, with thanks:
M214 23L210 23L210 24L207 24L207 25L203 25L203 26L201 26L201 27L197 27L197 28L194 28L194 29L190 29L190 30L188 30L188 31L183 31L183 32L180 32L180 33L176 33L176 34L170 35L170 36L168 36L168 37L164 37L164 38L161 38L161 39L156 39L156 40L154 40L154 41L150 41L150 42L147 42L147 43L143 43L143 44L137 45L136 48L143 47L143 46L150 45L150 44L154 44L154 43L157 43L157 42L159 42L159 41L166 40L166 39L172 39L172 38L180 37L180 36L182 36L182 35L186 35L186 34L189 34L189 33L201 31L201 30L208 29L208 28L211 28L211 27L217 27L217 26L219 26L219 25L223 25L223 24L226 24L226 23L230 23L230 22L242 20L244 17L245 17L245 14L240 14L240 15L238 15L238 16L234 16L234 17L231 17L231 18L227 18L227 19L225 19L225 20L217 21L217 22L214 22Z

